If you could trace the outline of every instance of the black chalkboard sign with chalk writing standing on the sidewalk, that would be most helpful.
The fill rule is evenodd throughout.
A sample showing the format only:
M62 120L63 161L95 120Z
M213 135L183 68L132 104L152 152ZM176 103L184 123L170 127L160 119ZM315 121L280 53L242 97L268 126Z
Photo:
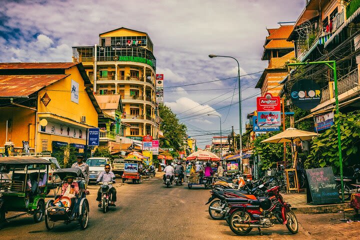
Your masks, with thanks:
M306 169L307 191L311 193L314 205L338 203L340 201L331 167ZM307 195L309 196L310 194Z

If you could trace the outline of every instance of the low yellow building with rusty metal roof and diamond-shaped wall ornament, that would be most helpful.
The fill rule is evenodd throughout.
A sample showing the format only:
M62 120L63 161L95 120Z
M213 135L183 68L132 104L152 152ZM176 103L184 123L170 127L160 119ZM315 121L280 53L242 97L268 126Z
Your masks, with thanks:
M0 151L28 141L30 151L83 152L101 113L90 86L81 63L0 63Z

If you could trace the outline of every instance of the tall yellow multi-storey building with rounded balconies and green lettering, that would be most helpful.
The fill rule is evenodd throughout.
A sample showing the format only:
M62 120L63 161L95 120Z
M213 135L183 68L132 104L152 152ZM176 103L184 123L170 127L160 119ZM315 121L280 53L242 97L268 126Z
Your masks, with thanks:
M99 34L99 44L73 46L73 61L82 62L94 94L121 95L124 135L158 138L155 103L156 59L146 32L120 27ZM95 73L94 73L95 72Z

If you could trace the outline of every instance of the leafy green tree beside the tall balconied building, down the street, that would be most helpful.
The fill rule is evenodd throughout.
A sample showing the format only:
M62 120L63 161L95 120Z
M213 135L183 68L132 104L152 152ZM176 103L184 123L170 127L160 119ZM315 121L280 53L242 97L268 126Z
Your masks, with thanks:
M160 147L173 148L174 151L180 150L184 144L186 137L186 126L179 122L176 114L171 109L164 105L159 104L159 116L162 121L160 123L160 130L164 134L164 139L160 140Z

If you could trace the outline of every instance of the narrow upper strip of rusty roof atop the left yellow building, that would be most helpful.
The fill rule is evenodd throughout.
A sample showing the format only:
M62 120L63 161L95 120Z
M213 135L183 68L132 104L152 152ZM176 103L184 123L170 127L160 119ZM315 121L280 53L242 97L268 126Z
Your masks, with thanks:
M77 64L79 64L79 62L0 62L0 69L67 69Z

